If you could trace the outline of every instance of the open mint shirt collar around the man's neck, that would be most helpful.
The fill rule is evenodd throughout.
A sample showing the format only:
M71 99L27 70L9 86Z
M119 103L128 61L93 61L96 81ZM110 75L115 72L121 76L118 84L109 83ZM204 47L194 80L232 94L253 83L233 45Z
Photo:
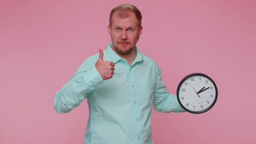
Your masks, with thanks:
M120 56L117 55L117 53L115 53L111 47L113 46L112 43L108 44L108 47L107 47L107 52L108 52L108 56L110 57L110 59L112 60L112 62L114 63L117 63L120 59L122 59ZM133 63L136 63L136 62L140 62L142 61L142 55L141 55L141 52L138 50L138 47L135 46L135 49L136 49L136 52L137 52L137 56L136 58L134 59L134 62Z

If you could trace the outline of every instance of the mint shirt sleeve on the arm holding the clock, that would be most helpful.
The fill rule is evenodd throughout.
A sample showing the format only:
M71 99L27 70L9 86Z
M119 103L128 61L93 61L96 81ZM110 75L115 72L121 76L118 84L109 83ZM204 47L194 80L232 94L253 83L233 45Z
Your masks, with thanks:
M161 71L157 68L156 88L153 100L153 107L157 112L185 112L179 105L177 96L166 91L166 86L161 79Z

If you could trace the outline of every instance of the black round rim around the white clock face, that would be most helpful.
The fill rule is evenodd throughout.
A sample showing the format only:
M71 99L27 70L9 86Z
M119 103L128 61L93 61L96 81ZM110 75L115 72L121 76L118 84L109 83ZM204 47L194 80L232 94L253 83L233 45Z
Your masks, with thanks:
M191 76L204 76L204 77L206 77L207 79L209 79L209 80L213 83L213 85L214 85L214 87L215 87L216 95L215 95L214 101L213 101L213 103L212 103L209 107L207 107L207 109L205 109L205 110L202 110L202 111L193 111L193 110L189 110L189 109L187 109L184 105L182 105L181 101L179 100L179 88L181 87L182 83L183 83L185 80L187 80L189 77L191 77ZM200 113L207 112L208 110L212 109L212 107L215 105L215 103L216 103L216 101L217 101L217 98L218 98L218 89L217 89L217 86L216 86L215 82L211 79L211 77L209 77L209 76L207 76L207 75L205 75L205 74L202 74L202 73L193 73L193 74L189 74L189 75L185 76L185 77L181 80L181 82L179 82L179 85L178 85L178 87L177 87L177 99L178 99L179 105L181 105L181 107L182 107L185 111L190 112L190 113L200 114Z

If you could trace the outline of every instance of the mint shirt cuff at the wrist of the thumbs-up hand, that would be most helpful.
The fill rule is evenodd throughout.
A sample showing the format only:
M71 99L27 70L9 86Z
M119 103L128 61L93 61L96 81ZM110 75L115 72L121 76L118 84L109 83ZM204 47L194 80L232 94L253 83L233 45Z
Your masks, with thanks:
M84 80L91 89L94 89L97 85L104 81L95 66L86 71L84 74Z

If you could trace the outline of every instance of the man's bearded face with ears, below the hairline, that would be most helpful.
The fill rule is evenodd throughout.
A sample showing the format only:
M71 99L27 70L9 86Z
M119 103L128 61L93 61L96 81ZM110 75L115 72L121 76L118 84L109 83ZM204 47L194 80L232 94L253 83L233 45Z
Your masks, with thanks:
M122 17L120 13L125 13L125 17ZM119 10L113 14L112 26L108 26L108 32L112 39L113 50L119 55L128 55L135 51L142 26L138 27L138 20L132 11Z

